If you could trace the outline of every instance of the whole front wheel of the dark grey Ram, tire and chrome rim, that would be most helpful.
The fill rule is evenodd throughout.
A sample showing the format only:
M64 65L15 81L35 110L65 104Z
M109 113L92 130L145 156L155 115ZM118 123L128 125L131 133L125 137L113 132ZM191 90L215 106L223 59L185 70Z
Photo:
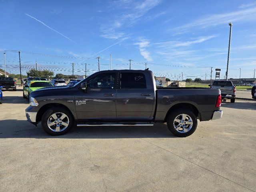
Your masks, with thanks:
M50 135L63 135L73 126L74 120L70 112L62 107L49 108L41 120L42 128Z

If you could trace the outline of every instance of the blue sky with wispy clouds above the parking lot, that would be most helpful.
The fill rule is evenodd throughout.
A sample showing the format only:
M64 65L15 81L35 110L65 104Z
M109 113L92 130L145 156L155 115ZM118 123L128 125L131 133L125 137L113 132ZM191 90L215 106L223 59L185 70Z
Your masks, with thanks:
M38 68L82 75L98 70L144 69L171 79L225 75L229 26L233 23L229 77L252 78L256 68L256 1L191 0L0 0L0 67ZM9 51L8 51L9 50ZM213 78L215 75L213 74ZM181 77L180 77L181 78Z

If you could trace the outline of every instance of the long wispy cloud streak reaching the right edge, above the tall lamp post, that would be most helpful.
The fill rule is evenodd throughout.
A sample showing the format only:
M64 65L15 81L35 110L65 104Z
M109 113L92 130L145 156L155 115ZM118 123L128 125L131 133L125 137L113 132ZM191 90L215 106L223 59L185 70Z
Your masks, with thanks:
M184 33L188 32L191 28L208 28L218 26L221 24L228 24L228 22L242 22L256 20L256 7L228 12L224 14L215 14L207 16L202 19L195 20L188 24L172 28L169 32Z

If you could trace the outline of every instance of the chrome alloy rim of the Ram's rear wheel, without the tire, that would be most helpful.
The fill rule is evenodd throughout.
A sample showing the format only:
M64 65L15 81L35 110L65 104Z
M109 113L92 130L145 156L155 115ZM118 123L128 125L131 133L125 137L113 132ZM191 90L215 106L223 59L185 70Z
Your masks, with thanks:
M187 114L179 114L174 118L174 128L180 133L186 133L190 131L193 126L192 118Z

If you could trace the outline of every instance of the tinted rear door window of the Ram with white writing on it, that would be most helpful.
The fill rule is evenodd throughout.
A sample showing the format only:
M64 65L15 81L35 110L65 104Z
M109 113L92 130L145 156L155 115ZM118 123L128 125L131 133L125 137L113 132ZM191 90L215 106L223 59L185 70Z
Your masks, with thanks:
M122 72L121 89L146 89L146 78L143 73Z

